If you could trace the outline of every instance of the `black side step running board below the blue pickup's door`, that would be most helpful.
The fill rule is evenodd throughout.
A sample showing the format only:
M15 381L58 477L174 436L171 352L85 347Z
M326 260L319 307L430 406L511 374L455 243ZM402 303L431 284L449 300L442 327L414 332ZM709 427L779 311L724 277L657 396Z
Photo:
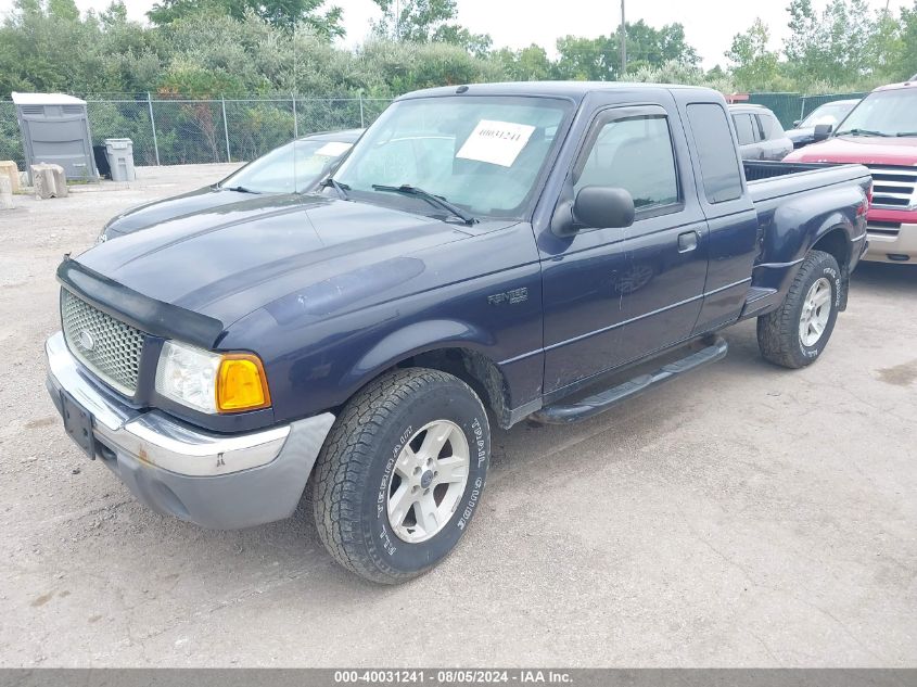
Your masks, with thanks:
M574 404L542 408L537 412L532 414L531 418L536 422L543 422L545 424L566 424L569 422L586 420L600 412L604 412L625 398L641 394L649 389L659 386L668 380L680 377L685 372L690 372L703 365L715 362L724 358L728 351L729 344L722 336L716 336L713 343L705 348L701 348L697 353L692 353L680 360L663 365L655 372L640 374L617 386L612 386L588 398L577 400Z

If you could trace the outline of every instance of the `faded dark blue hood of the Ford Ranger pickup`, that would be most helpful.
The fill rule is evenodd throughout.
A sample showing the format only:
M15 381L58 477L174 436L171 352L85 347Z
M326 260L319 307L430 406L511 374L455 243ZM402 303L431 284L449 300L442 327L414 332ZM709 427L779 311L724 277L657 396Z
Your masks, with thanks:
M474 232L489 224L477 225ZM403 290L424 266L422 259L406 256L471 236L462 229L423 215L324 196L255 196L106 241L76 259L144 296L228 327L284 295L329 280L346 280L365 297Z

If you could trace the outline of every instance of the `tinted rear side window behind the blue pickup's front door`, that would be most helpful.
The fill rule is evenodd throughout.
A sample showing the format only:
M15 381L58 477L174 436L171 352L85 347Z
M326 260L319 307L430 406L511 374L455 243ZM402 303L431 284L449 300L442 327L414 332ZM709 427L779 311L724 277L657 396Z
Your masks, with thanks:
M742 195L741 169L726 112L715 103L688 105L688 122L697 144L709 203L725 203Z

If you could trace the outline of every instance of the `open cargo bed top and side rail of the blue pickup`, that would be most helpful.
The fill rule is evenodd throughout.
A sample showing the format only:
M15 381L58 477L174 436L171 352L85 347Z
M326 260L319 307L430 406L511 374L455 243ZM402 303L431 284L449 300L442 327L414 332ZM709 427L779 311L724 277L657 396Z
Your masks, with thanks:
M863 165L744 161L742 167L755 203L869 177Z

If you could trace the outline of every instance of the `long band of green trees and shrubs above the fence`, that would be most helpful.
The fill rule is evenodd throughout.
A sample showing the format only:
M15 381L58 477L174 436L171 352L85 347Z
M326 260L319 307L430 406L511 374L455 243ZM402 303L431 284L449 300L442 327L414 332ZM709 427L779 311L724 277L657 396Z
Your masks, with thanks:
M874 12L866 0L791 0L779 49L760 20L734 37L725 63L702 69L678 23L565 36L555 50L497 48L457 21L456 0L373 0L381 18L356 49L336 47L329 0L161 0L149 24L124 0L80 14L74 0L16 0L0 27L0 97L11 91L213 98L300 93L391 97L485 80L595 79L704 84L724 91L864 90L917 72L917 0Z

